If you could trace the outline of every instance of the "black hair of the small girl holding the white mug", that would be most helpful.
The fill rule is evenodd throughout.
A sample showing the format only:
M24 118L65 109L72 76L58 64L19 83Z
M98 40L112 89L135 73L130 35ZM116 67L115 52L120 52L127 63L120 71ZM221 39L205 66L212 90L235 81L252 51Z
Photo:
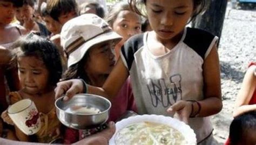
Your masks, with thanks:
M57 47L49 39L30 33L15 44L15 59L34 56L42 60L49 71L49 85L56 86L62 77L62 63Z

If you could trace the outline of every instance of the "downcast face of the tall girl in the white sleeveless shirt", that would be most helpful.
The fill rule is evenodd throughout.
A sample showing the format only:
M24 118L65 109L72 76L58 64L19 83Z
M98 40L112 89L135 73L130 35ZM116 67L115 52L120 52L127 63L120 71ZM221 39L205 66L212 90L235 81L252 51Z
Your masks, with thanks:
M148 0L146 10L157 37L169 40L183 32L193 13L193 1Z

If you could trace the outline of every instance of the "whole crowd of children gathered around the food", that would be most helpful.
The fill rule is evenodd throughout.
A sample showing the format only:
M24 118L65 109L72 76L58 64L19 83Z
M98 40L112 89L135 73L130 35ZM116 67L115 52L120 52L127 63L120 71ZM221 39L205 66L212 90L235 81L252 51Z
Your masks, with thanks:
M198 144L214 144L210 116L223 105L218 37L186 26L205 7L204 0L129 0L106 12L95 2L0 0L1 137L107 144L113 123L75 130L56 116L56 97L92 93L112 102L110 122L136 114L175 116L194 130ZM245 74L226 144L256 143L255 66ZM24 134L6 112L22 99L35 102L40 113L35 135Z

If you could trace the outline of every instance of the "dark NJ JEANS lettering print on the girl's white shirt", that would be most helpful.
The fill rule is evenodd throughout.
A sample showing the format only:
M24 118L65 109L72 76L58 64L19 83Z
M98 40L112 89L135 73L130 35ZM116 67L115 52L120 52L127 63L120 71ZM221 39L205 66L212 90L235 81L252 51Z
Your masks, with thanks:
M158 107L158 105L161 105L165 108L170 107L182 99L181 75L172 75L170 80L148 79L147 89L149 90L151 103L154 107Z

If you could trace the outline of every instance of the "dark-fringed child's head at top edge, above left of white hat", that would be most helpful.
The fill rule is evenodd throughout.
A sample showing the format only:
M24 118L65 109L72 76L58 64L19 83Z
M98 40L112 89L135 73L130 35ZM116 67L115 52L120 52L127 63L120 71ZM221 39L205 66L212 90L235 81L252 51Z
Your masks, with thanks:
M50 16L64 25L68 20L78 16L78 6L75 0L51 0L47 2L46 10Z

